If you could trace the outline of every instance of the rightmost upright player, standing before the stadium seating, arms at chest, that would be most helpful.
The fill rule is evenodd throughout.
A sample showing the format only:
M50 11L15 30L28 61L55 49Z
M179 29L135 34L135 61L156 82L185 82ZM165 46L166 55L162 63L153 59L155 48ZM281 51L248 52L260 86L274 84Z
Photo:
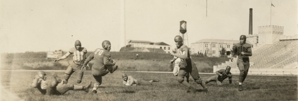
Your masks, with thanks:
M242 83L245 80L248 69L249 69L249 56L252 56L252 51L251 51L251 44L245 43L246 42L246 36L241 35L240 36L240 43L236 43L233 46L233 53L231 57L231 61L233 61L233 58L235 56L238 56L237 59L237 66L239 68L240 74L239 74L239 86L238 90L242 91Z

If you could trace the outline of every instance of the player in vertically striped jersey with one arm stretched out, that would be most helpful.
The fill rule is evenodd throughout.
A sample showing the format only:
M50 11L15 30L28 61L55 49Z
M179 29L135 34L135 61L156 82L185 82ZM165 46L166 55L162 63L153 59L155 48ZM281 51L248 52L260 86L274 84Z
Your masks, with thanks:
M82 64L85 61L85 54L87 53L87 49L82 47L82 44L80 41L75 41L75 47L71 48L64 56L61 58L57 58L54 61L59 61L61 59L65 59L71 54L74 54L73 62L68 66L68 68L65 71L64 74L64 83L68 83L68 79L70 76L76 71L82 69ZM78 71L78 77L76 78L76 83L81 83L82 78L84 75L84 71Z

